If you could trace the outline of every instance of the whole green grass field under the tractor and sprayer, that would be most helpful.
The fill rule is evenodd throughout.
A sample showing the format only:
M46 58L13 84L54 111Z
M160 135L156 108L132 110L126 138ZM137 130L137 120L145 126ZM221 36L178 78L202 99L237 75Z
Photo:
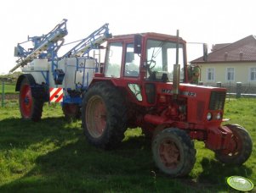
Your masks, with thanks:
M256 184L256 146L242 166L227 166L196 142L196 164L188 177L170 179L155 167L151 141L128 130L122 145L103 151L88 145L81 121L66 122L59 105L43 108L43 119L20 119L16 101L0 108L0 192L236 192L226 178L241 175ZM228 123L241 124L256 140L256 100L225 104ZM255 190L255 189L254 189ZM256 191L256 190L255 190Z

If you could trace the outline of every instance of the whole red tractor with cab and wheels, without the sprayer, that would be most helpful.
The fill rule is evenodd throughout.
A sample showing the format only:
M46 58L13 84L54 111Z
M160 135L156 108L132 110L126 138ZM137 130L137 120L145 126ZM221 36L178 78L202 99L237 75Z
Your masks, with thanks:
M156 166L171 177L191 172L193 140L203 141L222 163L245 163L253 146L247 130L221 125L226 89L190 84L194 77L185 50L179 34L109 38L105 63L82 98L88 141L110 149L125 130L140 127L152 137Z

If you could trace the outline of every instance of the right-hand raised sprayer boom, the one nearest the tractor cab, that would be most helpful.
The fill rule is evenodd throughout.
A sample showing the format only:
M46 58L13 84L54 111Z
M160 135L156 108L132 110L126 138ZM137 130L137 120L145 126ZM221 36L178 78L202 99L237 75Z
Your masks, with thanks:
M110 36L111 34L109 33L108 24L102 25L100 29L95 30L90 36L82 39L82 41L80 41L69 52L66 52L61 58L82 57L91 49L99 46Z

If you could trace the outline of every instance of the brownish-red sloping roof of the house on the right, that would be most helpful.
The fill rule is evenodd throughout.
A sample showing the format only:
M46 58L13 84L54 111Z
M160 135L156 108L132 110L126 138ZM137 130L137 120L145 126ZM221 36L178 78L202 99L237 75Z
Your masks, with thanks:
M251 35L234 43L219 45L222 47L217 47L218 49L208 53L207 61L203 61L203 57L200 57L192 60L191 63L256 61L256 36Z

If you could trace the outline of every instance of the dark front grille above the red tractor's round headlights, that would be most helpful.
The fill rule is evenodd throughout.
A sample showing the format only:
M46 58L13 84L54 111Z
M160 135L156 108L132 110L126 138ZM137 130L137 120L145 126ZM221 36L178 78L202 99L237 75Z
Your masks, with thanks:
M211 93L211 99L209 104L210 110L223 110L225 104L225 92L213 91Z

